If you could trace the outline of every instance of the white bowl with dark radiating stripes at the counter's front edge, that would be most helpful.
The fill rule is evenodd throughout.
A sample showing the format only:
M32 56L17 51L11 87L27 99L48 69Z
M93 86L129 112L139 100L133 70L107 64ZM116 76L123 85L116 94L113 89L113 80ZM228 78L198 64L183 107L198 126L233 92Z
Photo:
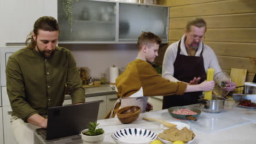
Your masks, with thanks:
M111 137L118 144L149 144L158 136L147 129L125 128L115 131Z

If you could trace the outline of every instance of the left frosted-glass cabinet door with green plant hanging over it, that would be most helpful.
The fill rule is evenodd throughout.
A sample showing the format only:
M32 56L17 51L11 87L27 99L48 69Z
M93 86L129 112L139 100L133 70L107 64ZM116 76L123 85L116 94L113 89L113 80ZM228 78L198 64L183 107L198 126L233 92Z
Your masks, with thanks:
M115 6L115 2L74 0L71 28L64 15L66 5L58 0L59 43L116 43Z

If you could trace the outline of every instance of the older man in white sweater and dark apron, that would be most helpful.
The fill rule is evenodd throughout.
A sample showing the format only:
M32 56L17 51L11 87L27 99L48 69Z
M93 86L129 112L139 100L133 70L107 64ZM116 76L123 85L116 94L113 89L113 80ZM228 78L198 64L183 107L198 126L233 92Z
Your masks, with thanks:
M195 17L188 21L182 39L171 44L165 52L162 65L162 76L165 79L195 85L206 80L208 68L214 68L214 74L222 71L211 47L203 44L202 40L205 37L206 29L206 22L201 17ZM232 91L235 87L236 84L232 82L228 83L225 89ZM195 104L200 94L202 92L164 97L162 109Z

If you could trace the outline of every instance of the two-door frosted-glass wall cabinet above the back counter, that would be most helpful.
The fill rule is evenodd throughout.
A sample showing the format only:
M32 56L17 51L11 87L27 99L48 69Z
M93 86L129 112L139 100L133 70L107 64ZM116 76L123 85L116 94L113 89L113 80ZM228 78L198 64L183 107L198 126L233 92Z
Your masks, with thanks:
M58 0L60 44L130 44L137 43L142 31L153 32L168 43L169 8L110 1L74 3L72 33ZM88 18L88 19L83 19Z

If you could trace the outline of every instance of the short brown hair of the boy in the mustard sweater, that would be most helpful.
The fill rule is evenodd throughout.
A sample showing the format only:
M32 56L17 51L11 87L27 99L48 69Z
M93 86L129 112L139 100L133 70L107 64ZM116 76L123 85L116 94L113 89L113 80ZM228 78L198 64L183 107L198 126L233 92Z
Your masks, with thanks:
M155 35L152 32L143 32L141 35L139 35L138 38L138 49L141 51L143 45L147 45L149 47L149 44L161 44L162 40L158 37L158 35Z

